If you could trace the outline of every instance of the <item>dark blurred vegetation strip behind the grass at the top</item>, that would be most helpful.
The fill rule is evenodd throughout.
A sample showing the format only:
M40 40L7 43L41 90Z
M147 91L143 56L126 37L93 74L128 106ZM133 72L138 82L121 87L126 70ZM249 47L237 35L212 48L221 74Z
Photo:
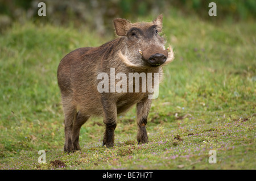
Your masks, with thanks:
M52 23L54 25L88 26L101 35L113 29L113 18L126 18L137 21L138 17L158 14L170 15L175 12L179 16L198 16L201 19L220 23L228 19L231 22L255 20L256 1L254 0L45 0L47 16L38 16L38 0L0 0L0 30L13 22ZM210 2L217 4L217 16L208 15Z

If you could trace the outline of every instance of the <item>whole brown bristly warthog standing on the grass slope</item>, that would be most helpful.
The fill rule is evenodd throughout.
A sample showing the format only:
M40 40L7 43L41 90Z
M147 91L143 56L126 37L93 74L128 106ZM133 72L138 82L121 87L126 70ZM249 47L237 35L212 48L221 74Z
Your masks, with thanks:
M151 78L147 77L152 85L155 84L155 73L159 74L159 80L162 79L162 65L174 59L172 48L166 49L166 41L159 35L162 20L163 15L152 22L130 23L125 19L114 19L115 33L119 36L117 39L100 47L73 50L60 61L57 79L65 116L64 151L80 150L80 128L90 116L104 117L103 145L114 146L117 115L129 110L134 104L137 104L137 141L148 142L146 124L151 99L148 98L150 92L141 91L145 80L139 81L140 91L102 92L98 91L101 81L98 75L110 75L110 69L114 69L115 75L152 73ZM135 86L133 79L126 82L126 79L120 80L120 77L108 83L113 88L119 81L123 81L122 86L126 83Z

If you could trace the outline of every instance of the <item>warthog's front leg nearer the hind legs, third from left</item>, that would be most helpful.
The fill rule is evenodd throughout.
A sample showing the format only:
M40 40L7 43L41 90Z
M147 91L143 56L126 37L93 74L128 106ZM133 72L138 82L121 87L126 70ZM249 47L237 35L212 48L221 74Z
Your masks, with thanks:
M114 146L114 131L117 127L117 105L113 100L109 101L102 99L102 106L104 110L104 123L106 130L103 138L103 146L107 147Z

